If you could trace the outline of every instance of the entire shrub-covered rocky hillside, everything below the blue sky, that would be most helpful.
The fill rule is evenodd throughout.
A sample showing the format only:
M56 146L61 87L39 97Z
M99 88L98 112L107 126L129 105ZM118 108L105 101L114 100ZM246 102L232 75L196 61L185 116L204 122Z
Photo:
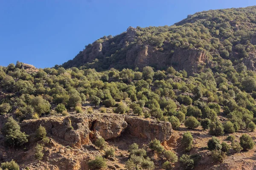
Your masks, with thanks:
M0 170L256 169L256 6L0 66Z

